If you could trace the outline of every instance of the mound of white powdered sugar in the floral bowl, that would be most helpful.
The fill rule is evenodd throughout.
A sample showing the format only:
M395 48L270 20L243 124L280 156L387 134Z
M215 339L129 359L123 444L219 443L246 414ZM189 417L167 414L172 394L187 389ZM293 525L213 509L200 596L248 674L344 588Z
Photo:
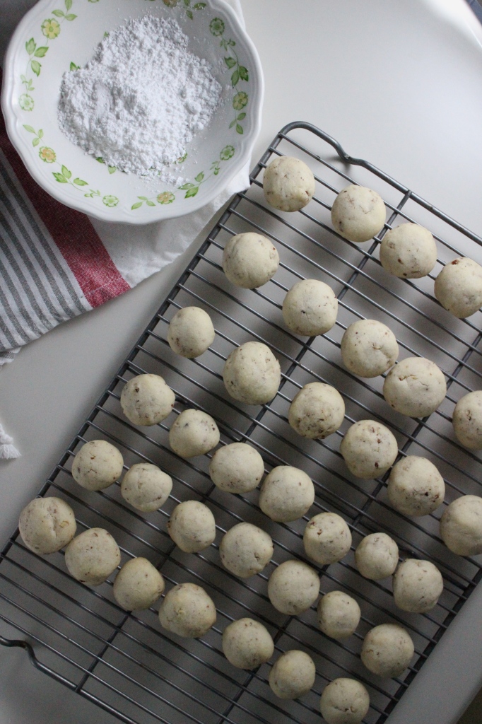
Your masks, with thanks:
M221 85L187 49L176 20L145 15L99 43L85 68L64 73L59 126L109 166L177 183L169 169L208 125Z

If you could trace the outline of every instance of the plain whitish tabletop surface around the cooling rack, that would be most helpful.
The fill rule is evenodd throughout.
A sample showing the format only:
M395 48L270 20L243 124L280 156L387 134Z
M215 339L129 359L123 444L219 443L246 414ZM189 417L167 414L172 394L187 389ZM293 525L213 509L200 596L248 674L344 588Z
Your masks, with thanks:
M32 4L0 0L1 41ZM482 51L450 17L465 13L463 0L242 0L242 7L266 79L255 158L284 123L308 120L482 232ZM117 233L106 224L98 229ZM0 468L2 541L192 251L124 297L29 345L1 372L0 419L23 453ZM457 720L481 683L481 605L482 589L390 724ZM1 649L0 704L1 724L33 717L38 724L114 721L36 672L18 650Z

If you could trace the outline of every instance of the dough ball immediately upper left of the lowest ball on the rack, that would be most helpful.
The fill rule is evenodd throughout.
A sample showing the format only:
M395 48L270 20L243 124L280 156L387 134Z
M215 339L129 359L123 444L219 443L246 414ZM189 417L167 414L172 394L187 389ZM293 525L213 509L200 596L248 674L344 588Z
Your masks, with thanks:
M304 651L285 651L269 672L269 686L279 699L308 694L316 678L313 659Z

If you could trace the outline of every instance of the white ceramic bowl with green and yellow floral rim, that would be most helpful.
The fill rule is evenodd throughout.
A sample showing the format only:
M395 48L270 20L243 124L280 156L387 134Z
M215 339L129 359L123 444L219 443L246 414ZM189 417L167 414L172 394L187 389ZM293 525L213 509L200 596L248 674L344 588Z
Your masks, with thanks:
M57 122L64 72L84 66L104 33L146 13L175 17L190 50L211 63L224 87L224 105L187 147L187 183L179 188L99 163ZM249 160L262 101L258 54L223 0L40 0L10 41L1 93L9 138L35 181L73 209L131 224L182 216L212 201Z

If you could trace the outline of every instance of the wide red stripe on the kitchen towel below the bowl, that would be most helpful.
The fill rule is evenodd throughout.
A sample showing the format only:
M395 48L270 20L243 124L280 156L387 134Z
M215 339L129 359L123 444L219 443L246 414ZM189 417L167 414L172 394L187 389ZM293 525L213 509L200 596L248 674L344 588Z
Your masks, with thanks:
M30 176L10 142L1 114L0 148L7 156L35 211L72 269L88 303L98 307L107 300L130 290L130 286L110 258L88 216L56 201Z

